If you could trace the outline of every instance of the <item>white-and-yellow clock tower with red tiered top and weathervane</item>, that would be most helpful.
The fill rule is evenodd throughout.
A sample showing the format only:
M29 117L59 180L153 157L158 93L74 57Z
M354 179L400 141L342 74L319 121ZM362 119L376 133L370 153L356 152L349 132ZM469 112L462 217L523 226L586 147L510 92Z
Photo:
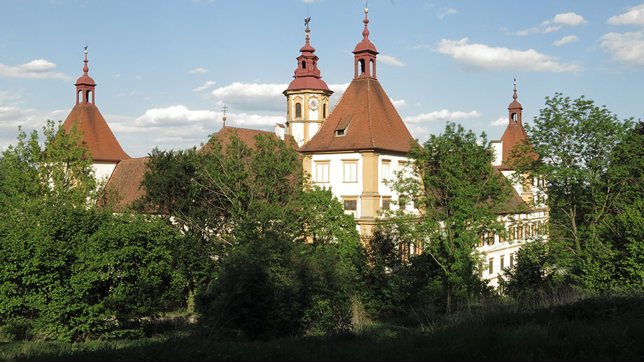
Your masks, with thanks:
M302 55L297 57L295 79L283 92L287 106L286 133L293 136L298 146L307 143L329 116L329 97L333 94L322 80L315 48L309 44L309 19L307 43L300 48Z

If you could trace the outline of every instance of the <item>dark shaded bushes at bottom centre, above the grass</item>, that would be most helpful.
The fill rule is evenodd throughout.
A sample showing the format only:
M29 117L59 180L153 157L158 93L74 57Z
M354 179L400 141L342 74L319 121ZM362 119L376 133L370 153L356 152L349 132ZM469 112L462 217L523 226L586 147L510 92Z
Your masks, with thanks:
M266 234L242 243L197 296L210 335L242 339L318 335L351 325L351 270L334 245Z

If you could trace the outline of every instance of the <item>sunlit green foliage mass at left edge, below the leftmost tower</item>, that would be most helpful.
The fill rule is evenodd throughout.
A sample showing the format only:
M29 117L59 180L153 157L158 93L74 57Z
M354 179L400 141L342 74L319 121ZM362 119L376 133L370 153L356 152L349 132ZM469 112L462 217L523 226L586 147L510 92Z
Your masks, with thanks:
M44 130L0 159L0 325L7 338L77 340L141 333L176 299L169 250L155 219L94 207L92 160L72 130Z

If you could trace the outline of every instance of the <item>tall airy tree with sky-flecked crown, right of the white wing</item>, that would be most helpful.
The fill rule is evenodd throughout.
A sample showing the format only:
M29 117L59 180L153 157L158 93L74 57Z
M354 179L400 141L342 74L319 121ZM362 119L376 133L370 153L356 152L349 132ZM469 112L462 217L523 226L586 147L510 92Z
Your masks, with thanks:
M514 150L519 171L545 175L550 209L550 238L566 242L574 254L598 245L603 217L615 210L624 182L612 178L614 147L631 126L584 96L571 100L561 93L546 97L545 108L526 126L539 156L526 162L528 145ZM547 187L547 189L545 189Z

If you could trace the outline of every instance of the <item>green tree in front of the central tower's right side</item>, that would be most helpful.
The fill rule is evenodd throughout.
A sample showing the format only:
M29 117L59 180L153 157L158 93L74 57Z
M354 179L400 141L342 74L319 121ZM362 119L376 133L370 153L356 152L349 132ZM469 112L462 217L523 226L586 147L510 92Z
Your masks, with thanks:
M463 126L447 124L423 148L412 144L412 177L400 174L394 187L402 201L414 201L419 215L398 212L391 226L414 242L442 272L446 310L452 299L479 290L475 247L486 234L503 229L510 183L491 166L491 144Z

